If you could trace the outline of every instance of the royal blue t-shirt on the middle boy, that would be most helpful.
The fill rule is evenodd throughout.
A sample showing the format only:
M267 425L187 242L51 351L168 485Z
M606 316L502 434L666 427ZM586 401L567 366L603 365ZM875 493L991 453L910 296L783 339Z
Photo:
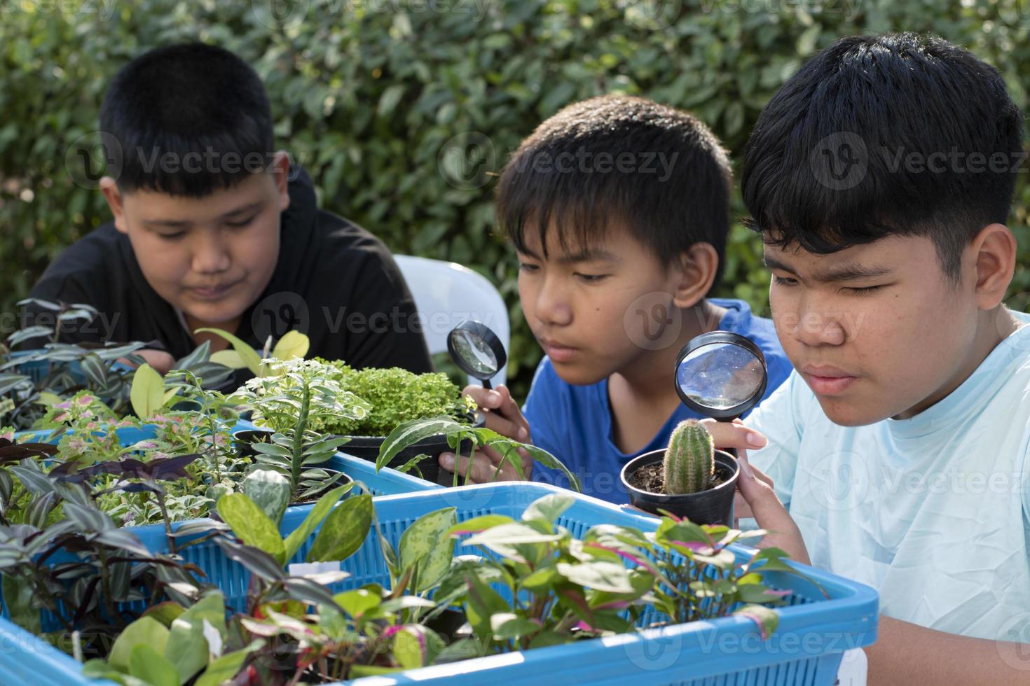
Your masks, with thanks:
M772 321L752 315L751 308L743 300L710 298L709 301L726 309L719 322L721 330L747 336L765 356L768 385L762 398L764 400L790 375L792 369L777 338ZM590 386L566 384L558 377L547 357L537 367L522 412L529 421L534 444L561 460L582 481L583 493L619 504L629 502L629 496L619 480L622 467L639 455L665 447L673 429L683 420L700 419L686 405L680 405L643 449L622 453L612 436L608 380ZM540 464L534 466L533 477L537 481L569 486L569 479L563 474Z

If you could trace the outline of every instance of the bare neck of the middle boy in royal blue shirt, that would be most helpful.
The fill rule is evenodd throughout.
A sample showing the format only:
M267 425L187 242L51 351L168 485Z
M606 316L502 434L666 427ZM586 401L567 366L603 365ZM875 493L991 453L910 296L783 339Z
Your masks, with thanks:
M682 327L675 342L649 351L609 376L612 436L620 450L631 454L642 449L676 410L680 397L673 380L680 350L694 336L718 329L725 314L725 308L708 300L682 311Z

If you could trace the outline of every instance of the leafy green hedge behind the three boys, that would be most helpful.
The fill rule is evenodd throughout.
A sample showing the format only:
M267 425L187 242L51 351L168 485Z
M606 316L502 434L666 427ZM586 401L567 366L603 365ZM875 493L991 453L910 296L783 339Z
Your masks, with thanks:
M500 286L521 395L540 351L514 258L492 233L488 173L524 135L570 102L621 91L691 110L736 155L806 57L840 36L901 29L972 49L1026 109L1026 0L0 0L0 312L13 312L63 246L108 219L99 192L72 178L107 80L149 47L200 39L265 79L278 143L311 172L323 207L394 252L461 262ZM1010 220L1022 252L1009 303L1021 310L1030 304L1025 179ZM765 312L757 237L734 226L727 262L719 294Z

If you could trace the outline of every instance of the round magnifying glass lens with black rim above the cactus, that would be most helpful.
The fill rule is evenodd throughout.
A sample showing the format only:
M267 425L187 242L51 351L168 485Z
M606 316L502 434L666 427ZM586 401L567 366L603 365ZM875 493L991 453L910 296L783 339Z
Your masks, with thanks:
M758 404L767 381L761 349L730 331L702 333L676 358L680 400L698 414L720 422L732 422Z

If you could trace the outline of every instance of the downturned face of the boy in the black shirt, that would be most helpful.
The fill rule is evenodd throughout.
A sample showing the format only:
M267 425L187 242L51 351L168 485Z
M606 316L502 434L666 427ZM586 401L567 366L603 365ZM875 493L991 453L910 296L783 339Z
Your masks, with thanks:
M280 175L280 171L282 171ZM284 169L256 173L201 198L102 184L147 283L191 327L236 328L268 286L279 257Z

